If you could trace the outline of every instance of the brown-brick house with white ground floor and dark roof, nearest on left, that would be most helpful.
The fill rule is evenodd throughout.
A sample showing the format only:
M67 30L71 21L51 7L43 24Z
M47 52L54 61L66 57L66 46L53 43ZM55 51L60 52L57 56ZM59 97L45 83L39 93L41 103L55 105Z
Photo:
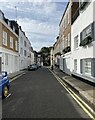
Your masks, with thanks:
M0 70L12 73L19 70L18 24L0 11Z

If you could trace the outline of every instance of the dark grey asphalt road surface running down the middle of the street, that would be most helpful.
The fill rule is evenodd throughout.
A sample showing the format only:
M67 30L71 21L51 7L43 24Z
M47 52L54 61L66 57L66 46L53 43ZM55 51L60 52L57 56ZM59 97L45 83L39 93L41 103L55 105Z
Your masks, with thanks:
M3 118L88 118L47 68L27 71L11 82Z

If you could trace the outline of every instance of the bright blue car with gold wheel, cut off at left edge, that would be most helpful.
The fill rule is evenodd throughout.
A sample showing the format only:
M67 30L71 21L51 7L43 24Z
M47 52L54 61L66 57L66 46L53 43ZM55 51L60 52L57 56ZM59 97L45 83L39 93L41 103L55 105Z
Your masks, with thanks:
M10 83L7 72L0 72L0 97L6 98L9 94Z

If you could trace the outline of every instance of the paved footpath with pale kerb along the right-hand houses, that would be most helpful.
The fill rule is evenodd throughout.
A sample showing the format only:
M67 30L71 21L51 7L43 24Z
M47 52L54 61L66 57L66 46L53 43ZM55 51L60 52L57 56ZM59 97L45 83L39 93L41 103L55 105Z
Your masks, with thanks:
M76 90L93 108L95 108L95 85L86 83L80 79L69 76L58 68L53 69L54 73L57 74L65 83L71 88Z

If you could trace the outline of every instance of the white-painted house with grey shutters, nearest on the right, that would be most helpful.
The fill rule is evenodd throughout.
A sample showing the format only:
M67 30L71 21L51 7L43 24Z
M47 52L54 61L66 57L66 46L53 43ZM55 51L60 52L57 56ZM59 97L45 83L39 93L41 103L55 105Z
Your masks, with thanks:
M83 0L82 0L83 2ZM84 3L80 3L82 5ZM81 6L80 6L81 7ZM71 27L71 72L95 83L95 0L86 2ZM86 44L86 42L89 42ZM85 45L86 44L86 45Z

